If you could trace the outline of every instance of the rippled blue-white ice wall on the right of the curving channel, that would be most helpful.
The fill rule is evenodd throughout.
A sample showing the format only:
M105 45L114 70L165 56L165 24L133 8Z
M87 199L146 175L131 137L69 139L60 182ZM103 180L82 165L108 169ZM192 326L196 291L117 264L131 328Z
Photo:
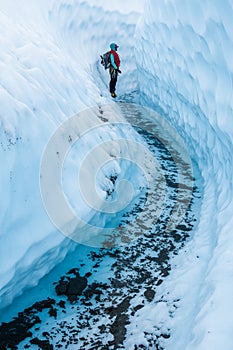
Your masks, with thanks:
M232 11L231 1L149 1L137 30L142 102L176 126L204 180L198 230L162 286L181 298L172 350L232 349Z

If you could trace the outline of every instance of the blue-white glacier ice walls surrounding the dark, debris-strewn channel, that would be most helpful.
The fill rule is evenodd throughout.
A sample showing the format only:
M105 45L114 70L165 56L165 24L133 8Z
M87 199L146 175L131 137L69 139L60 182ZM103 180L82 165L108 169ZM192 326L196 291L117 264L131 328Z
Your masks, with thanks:
M116 107L109 107L107 72L96 64L99 54L116 41L122 56L118 94L139 88L139 102L176 128L203 181L198 227L171 260L171 273L158 287L157 301L131 320L125 347L142 344L144 331L155 332L157 324L170 330L170 339L164 340L166 350L232 349L232 10L231 0L1 1L1 309L14 306L20 294L28 295L29 288L76 247L50 221L39 185L44 175L41 166L46 169L42 161L46 145L67 120L83 113L79 135L95 128L94 134L72 144L67 157L71 145L66 144L64 164L59 163L64 167L66 197L82 219L100 227L107 223L88 203L77 200L80 193L72 186L90 149L95 152L82 179L88 177L93 183L94 167L105 163L93 188L96 209L101 211L106 204L111 175L133 183L133 196L146 186L140 172L115 160L127 149L128 140L139 141L128 125L123 131L118 127L125 121L116 110L112 112ZM100 106L109 114L106 125L90 113ZM121 148L115 142L119 139L126 140ZM96 148L98 140L104 141L104 147ZM138 149L133 151L130 158L136 157ZM67 176L72 182L66 181ZM53 180L49 190L60 181ZM88 189L81 188L85 198ZM49 200L54 207L56 197ZM84 237L75 240L83 242Z

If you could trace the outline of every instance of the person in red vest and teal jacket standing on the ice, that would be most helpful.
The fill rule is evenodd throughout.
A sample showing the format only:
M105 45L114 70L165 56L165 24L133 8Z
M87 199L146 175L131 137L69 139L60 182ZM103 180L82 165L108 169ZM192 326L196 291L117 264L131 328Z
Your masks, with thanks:
M118 47L119 46L115 43L110 44L111 51L110 51L110 67L109 67L109 74L110 74L109 90L113 98L117 96L115 94L117 76L118 76L118 73L121 73L120 71L121 61L118 53L116 52Z

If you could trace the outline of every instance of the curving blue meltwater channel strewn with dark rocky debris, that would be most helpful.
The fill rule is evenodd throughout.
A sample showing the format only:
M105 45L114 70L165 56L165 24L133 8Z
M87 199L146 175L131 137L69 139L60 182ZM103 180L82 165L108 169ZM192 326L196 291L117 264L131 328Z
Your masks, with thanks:
M125 349L126 341L134 349L166 348L166 325L155 321L154 331L144 332L143 344L129 327L148 304L161 298L166 304L166 295L157 295L157 287L169 274L172 256L194 234L199 175L179 135L162 117L133 103L118 103L117 108L138 133L137 142L147 145L155 159L148 153L145 163L140 157L130 159L146 167L147 186L121 211L114 227L100 227L96 235L93 223L95 230L88 231L86 242L76 230L71 236L80 240L75 251L25 294L37 294L37 302L0 326L1 349ZM111 122L106 106L98 106L96 113L102 124ZM110 180L108 194L113 196L120 174ZM25 295L18 298L19 305ZM167 305L170 317L176 303Z

